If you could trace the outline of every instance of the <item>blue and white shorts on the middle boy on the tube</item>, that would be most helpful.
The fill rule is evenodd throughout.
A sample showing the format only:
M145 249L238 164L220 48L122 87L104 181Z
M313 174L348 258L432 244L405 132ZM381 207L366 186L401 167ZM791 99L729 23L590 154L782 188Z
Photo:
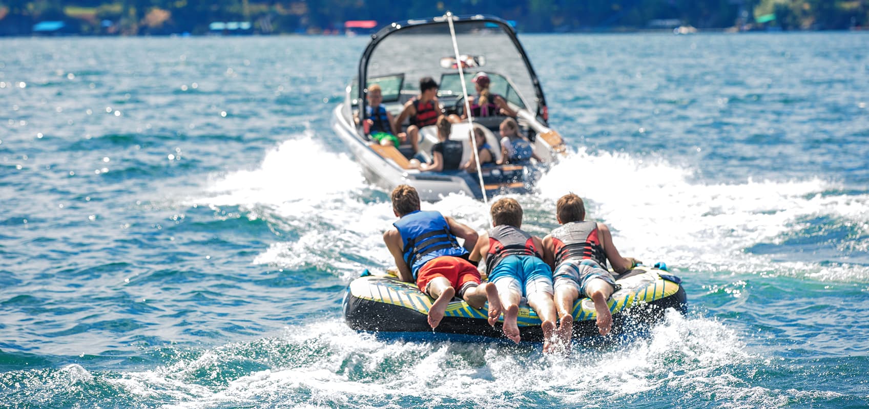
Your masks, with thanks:
M514 291L526 298L529 294L554 294L552 269L533 255L508 255L489 272L488 280L494 282L498 293Z

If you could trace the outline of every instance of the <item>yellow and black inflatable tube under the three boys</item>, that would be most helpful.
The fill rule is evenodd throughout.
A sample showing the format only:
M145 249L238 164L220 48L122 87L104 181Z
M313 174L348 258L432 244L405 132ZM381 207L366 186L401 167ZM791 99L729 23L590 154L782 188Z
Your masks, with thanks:
M607 301L613 313L612 333L635 323L660 320L664 310L676 308L684 313L685 289L678 277L653 267L634 267L616 280L621 286ZM344 319L357 331L377 333L432 333L428 308L432 300L415 284L402 282L394 275L366 275L350 282L344 294ZM488 304L487 304L488 307ZM502 338L501 322L490 327L487 307L476 309L454 298L434 332ZM598 335L594 303L583 298L574 304L574 338ZM522 340L542 341L541 320L524 302L519 307Z

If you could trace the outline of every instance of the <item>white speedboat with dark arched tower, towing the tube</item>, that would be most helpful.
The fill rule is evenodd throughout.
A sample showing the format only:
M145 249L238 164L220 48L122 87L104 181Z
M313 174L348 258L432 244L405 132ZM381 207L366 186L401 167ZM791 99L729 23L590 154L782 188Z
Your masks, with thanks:
M454 37L449 19L452 19ZM459 50L454 49L453 39ZM397 117L402 107L420 94L419 80L431 76L439 84L437 93L444 115L464 112L466 104L459 67L465 89L474 93L472 77L485 72L490 79L489 90L504 98L522 133L540 158L520 163L492 164L482 168L482 183L477 172L464 170L422 172L410 159L425 159L438 142L434 126L420 131L418 150L409 144L398 148L372 141L361 125L366 112L368 87L379 84L383 104ZM361 79L361 81L360 81ZM359 84L365 84L360 87ZM548 127L546 99L540 82L522 49L514 29L494 16L445 16L392 23L371 36L362 53L359 71L348 84L344 102L335 107L332 128L362 164L368 181L391 189L399 184L414 186L423 201L438 201L450 193L463 192L475 198L499 193L522 192L534 187L541 172L558 160L564 152L559 135ZM463 143L461 163L473 155L469 130L482 129L496 160L501 159L499 125L506 116L493 115L472 118L473 122L455 123L451 140ZM401 124L407 129L408 123ZM481 186L482 185L482 186Z

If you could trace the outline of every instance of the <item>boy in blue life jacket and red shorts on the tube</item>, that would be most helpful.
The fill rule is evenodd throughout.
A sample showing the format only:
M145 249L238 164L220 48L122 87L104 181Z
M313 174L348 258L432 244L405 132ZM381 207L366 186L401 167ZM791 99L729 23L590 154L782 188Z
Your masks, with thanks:
M434 329L441 323L454 295L474 308L484 307L488 300L490 311L500 312L494 284L482 284L477 267L468 262L468 250L474 248L477 232L440 212L421 211L420 196L412 186L399 185L391 199L399 219L383 234L383 241L395 258L399 279L415 282L421 292L434 299L428 309L428 325ZM459 246L458 237L464 240L464 247ZM493 320L489 318L489 322Z

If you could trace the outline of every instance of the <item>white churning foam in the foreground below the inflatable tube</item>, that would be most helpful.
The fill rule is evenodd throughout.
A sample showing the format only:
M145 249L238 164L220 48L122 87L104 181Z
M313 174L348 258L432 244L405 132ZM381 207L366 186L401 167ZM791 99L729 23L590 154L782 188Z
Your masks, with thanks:
M269 367L233 374L231 362L238 357ZM277 339L219 346L156 370L123 373L115 383L142 399L162 396L165 407L184 408L252 402L262 407L612 406L673 388L768 404L791 394L746 379L753 367L768 364L746 352L720 322L674 311L647 337L614 346L574 346L567 358L544 355L540 344L381 340L327 320L288 328ZM215 376L227 379L209 380Z

